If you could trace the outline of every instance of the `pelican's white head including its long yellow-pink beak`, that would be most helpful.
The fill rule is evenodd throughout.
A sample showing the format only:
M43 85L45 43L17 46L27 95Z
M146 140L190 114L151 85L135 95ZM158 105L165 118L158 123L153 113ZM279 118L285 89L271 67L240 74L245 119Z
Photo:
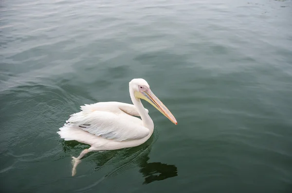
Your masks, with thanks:
M166 106L153 94L146 80L142 78L135 78L129 82L130 88L134 91L136 100L144 99L155 108L157 108L165 117L167 117L172 123L178 124L171 112Z

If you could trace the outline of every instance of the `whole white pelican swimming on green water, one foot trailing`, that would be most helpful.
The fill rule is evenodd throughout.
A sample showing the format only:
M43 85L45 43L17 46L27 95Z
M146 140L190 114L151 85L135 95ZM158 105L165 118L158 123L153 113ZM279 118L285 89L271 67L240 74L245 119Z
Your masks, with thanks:
M115 150L135 147L148 140L154 123L144 108L141 99L157 108L172 123L176 119L167 107L153 94L146 80L133 79L129 82L129 92L133 105L120 102L99 102L81 106L81 111L70 115L57 132L61 139L76 140L89 144L73 158L72 176L80 159L91 151ZM138 116L141 119L134 117Z

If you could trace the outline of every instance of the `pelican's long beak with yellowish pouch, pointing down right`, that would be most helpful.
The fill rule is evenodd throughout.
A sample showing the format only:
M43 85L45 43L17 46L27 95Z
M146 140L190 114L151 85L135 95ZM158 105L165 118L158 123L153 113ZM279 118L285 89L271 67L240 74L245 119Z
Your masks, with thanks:
M171 112L167 109L167 107L153 94L153 92L150 89L147 89L145 91L139 91L135 93L135 96L140 99L144 99L151 105L153 105L157 110L159 110L162 114L164 114L165 117L167 117L172 123L178 124L174 116L171 114Z

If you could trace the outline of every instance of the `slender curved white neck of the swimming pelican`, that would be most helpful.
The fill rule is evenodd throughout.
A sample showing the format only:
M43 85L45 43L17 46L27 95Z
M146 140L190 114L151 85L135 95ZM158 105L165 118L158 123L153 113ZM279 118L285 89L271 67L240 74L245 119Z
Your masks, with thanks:
M154 128L153 121L150 118L150 116L148 115L147 111L145 110L143 104L141 103L141 100L136 99L136 97L134 95L134 90L131 88L131 86L129 87L129 91L130 91L130 97L131 97L132 103L137 108L138 113L140 114L140 117L141 117L142 122L143 122L143 126L145 126L146 128L148 128L150 130L153 130L153 128Z

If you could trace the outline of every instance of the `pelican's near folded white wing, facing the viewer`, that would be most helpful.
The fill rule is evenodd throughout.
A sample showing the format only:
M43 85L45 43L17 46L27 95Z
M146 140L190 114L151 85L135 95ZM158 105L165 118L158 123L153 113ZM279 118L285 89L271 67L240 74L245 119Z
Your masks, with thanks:
M76 126L91 134L109 140L139 140L149 134L142 120L132 117L121 110L119 112L83 111L73 114L67 124Z

